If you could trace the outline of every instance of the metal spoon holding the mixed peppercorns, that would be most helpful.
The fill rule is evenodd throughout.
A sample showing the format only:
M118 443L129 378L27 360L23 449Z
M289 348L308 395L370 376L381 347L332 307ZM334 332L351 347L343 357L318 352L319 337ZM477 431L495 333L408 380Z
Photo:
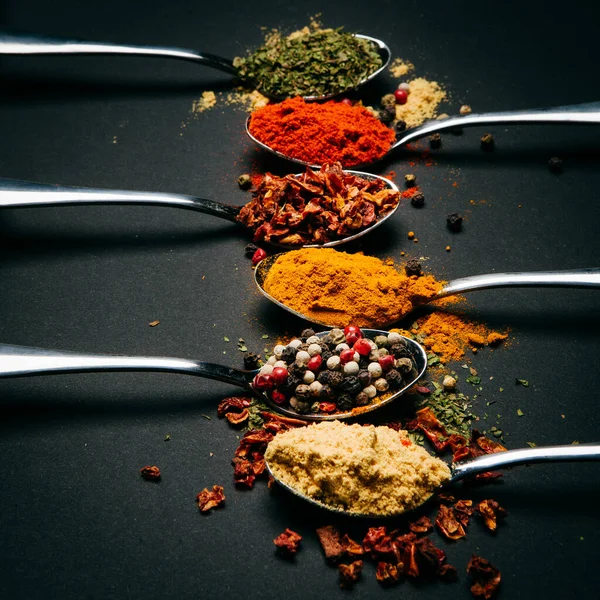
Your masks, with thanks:
M363 329L363 335L373 339L377 335L386 335L387 332L377 329ZM322 331L316 335L325 337L329 332ZM65 352L61 350L47 350L28 346L13 346L0 344L0 378L28 377L31 375L50 375L60 373L97 373L100 371L158 371L161 373L173 372L185 375L196 375L207 379L216 379L244 388L261 399L274 410L296 419L305 421L331 421L334 419L348 419L366 412L371 412L393 402L411 388L427 369L427 354L423 347L409 338L404 338L406 347L410 351L416 365L417 376L413 381L400 390L386 392L376 396L370 404L356 407L347 412L333 414L300 414L295 410L280 406L273 402L266 392L257 392L252 387L252 380L260 369L243 371L214 363L199 362L184 358L169 358L161 356L118 356L110 354L83 354L80 352Z

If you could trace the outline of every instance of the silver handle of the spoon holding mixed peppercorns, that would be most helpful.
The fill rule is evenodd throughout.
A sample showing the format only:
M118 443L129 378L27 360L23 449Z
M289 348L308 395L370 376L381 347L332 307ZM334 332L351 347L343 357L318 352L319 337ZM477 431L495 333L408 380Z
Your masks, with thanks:
M252 371L182 358L80 354L0 344L0 378L100 371L158 371L196 375L248 388Z

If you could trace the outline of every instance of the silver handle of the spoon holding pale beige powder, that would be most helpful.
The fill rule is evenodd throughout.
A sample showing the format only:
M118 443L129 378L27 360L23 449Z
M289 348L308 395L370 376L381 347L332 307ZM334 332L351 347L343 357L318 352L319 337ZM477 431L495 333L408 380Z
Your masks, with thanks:
M486 454L452 466L451 481L494 471L503 467L529 465L539 462L597 461L600 460L600 444L577 444L570 446L546 446L525 448Z

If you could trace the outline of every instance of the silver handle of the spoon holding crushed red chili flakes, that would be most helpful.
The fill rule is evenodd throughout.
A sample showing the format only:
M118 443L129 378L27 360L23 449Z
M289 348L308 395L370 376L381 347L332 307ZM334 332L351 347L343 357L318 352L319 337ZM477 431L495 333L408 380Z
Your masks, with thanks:
M183 194L67 187L0 179L0 208L129 204L185 208L235 222L240 207Z

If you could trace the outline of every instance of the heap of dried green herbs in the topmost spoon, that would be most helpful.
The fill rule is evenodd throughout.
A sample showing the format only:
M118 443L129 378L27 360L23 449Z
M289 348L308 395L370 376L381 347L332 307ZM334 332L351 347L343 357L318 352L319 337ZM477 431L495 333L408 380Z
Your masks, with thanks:
M268 96L328 96L352 89L382 65L376 47L341 29L272 36L233 61L242 79Z

